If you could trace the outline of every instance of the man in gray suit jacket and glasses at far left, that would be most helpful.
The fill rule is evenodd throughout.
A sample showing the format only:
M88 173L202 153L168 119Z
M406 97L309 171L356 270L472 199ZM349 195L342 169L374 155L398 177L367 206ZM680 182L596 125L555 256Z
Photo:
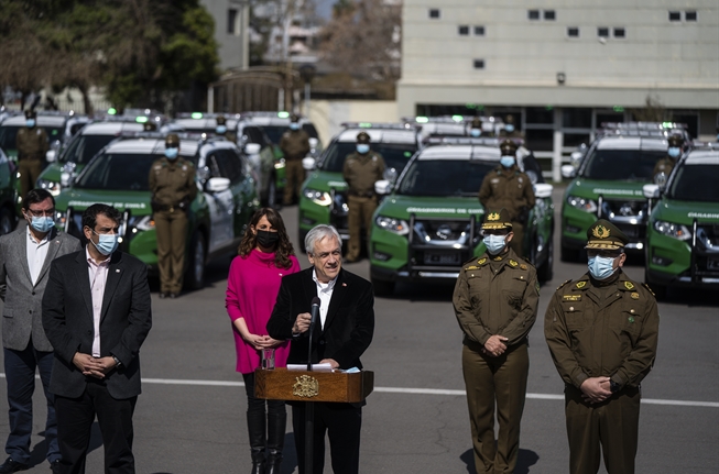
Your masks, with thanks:
M31 190L23 206L22 214L28 225L20 225L18 231L0 238L0 298L4 301L2 345L10 407L10 434L6 443L10 458L0 465L0 473L29 467L35 370L40 372L47 399L45 441L47 461L55 473L59 449L54 398L50 392L53 346L42 326L41 305L51 262L81 246L77 239L55 229L55 199L47 190Z

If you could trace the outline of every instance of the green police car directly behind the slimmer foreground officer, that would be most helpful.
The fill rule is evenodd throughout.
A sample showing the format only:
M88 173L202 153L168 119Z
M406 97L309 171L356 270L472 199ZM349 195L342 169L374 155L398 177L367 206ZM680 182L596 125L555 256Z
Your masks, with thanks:
M497 139L457 139L418 152L396 184L378 181L386 195L373 216L370 277L377 295L396 282L451 282L462 263L484 251L478 199L484 176L500 159ZM554 205L552 185L535 184L524 254L542 280L552 278Z

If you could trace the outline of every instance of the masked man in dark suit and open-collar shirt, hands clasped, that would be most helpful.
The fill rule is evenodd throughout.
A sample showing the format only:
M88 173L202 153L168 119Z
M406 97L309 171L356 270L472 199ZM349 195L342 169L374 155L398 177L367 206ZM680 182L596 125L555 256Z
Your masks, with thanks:
M139 351L152 316L145 264L117 251L120 219L111 206L87 208L85 251L53 262L43 297L43 326L55 349L50 389L66 474L85 472L96 415L106 474L134 473Z

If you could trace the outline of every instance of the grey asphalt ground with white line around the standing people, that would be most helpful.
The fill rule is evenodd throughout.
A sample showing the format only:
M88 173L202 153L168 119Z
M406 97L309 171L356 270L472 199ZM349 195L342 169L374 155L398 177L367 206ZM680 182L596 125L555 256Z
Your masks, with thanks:
M555 203L560 203L559 190ZM291 235L296 235L296 209L282 213ZM555 249L558 256L558 242ZM307 265L304 255L301 262ZM142 349L145 382L134 417L140 474L249 471L246 398L241 377L233 372L235 349L225 312L228 266L229 262L214 264L207 287L178 300L160 300L153 294L154 327ZM367 262L347 268L364 277L369 274ZM631 265L630 260L627 271L641 280L641 263ZM516 473L567 472L563 386L541 321L554 289L584 272L586 264L556 258L555 278L542 288L540 319L530 334L532 366ZM674 294L660 305L660 352L643 384L638 473L717 472L718 309L716 294L693 291ZM377 299L375 313L374 341L362 357L366 367L375 372L377 389L363 411L361 471L472 472L461 335L451 309L451 286L400 285L392 298ZM0 378L0 393L4 390ZM50 472L40 436L45 412L40 390L39 385L34 467L28 471L33 474ZM0 399L0 442L4 442L7 401L4 396ZM102 472L101 440L97 430L95 434L89 474ZM286 443L293 447L291 427ZM296 472L292 451L287 450L283 474Z

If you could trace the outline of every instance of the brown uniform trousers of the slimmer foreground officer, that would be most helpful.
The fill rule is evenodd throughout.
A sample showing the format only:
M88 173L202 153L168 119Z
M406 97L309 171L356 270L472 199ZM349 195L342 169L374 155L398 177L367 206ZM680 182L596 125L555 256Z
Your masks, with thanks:
M461 363L477 473L513 473L520 454L520 423L530 373L526 343L509 348L499 357L483 354L479 343L465 344Z

